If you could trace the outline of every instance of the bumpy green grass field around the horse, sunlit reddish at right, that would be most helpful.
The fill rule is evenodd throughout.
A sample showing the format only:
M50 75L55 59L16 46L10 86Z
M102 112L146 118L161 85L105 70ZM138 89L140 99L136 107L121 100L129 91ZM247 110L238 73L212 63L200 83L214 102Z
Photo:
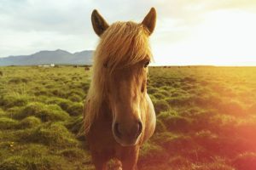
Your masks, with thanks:
M0 170L94 169L78 135L90 71L0 67ZM255 170L256 67L149 68L142 170Z

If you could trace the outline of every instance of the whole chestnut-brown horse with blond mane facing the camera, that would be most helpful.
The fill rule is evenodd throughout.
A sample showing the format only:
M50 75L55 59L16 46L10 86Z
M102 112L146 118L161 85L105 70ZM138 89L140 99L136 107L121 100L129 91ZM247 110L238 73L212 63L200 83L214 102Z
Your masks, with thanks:
M110 159L119 160L119 168L137 169L139 147L154 133L154 106L146 86L152 59L148 37L155 20L154 8L140 24L109 26L96 10L91 14L100 42L84 106L84 130L97 170L106 169Z

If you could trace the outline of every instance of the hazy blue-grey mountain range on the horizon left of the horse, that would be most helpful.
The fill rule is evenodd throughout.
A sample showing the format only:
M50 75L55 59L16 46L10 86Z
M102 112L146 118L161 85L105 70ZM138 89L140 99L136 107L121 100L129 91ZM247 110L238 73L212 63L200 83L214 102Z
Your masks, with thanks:
M0 58L0 65L91 65L92 50L71 54L65 50L40 51L31 55L19 55Z

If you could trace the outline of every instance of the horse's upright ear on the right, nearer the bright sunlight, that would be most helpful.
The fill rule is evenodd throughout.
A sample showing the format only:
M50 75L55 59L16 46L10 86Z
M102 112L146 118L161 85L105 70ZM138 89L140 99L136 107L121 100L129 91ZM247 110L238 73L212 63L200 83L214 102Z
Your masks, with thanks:
M146 26L146 28L149 31L149 35L153 33L154 26L156 21L156 11L155 8L151 8L147 16L143 20L143 26Z

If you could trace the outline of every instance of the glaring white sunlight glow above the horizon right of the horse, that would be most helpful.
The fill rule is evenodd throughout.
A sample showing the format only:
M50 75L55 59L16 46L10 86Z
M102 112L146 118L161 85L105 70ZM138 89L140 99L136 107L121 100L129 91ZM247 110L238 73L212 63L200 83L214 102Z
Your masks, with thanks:
M157 65L256 65L256 14L218 10L205 14L200 25L188 28L179 42L161 43L153 38ZM171 23L171 22L170 22ZM170 24L171 26L172 24ZM172 31L170 27L170 31Z

